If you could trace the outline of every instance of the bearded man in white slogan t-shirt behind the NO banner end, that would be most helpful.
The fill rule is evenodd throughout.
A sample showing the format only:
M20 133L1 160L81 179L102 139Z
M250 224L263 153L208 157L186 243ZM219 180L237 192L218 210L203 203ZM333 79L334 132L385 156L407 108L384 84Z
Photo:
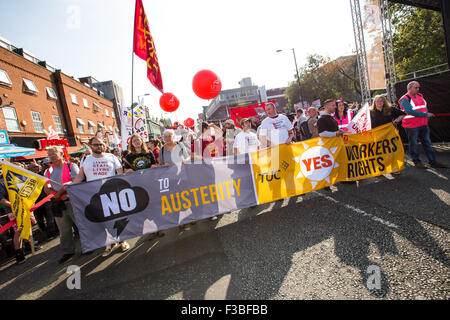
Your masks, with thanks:
M82 182L85 178L86 181L92 181L123 173L119 159L112 153L105 153L106 145L103 140L97 137L91 138L89 140L89 147L92 150L92 154L84 159L83 164L81 164L80 167L80 172L73 183ZM130 248L130 245L126 241L120 242L120 246L122 247L123 252ZM113 246L107 246L103 253L103 257L109 256L117 247L117 243Z

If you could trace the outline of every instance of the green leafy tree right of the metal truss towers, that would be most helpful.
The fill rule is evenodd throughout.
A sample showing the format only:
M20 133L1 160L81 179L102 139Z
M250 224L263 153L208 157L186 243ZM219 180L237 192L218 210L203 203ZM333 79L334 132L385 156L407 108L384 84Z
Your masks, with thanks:
M395 68L400 80L412 78L411 75L406 75L408 73L447 62L440 12L393 3L390 4L390 12ZM431 72L440 70L442 69Z

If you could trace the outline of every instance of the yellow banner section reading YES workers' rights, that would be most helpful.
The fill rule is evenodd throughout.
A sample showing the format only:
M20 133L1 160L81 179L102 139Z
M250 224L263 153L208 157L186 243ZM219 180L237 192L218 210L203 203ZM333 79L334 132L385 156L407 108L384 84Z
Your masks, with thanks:
M397 130L386 124L360 134L315 138L251 153L258 203L404 169Z

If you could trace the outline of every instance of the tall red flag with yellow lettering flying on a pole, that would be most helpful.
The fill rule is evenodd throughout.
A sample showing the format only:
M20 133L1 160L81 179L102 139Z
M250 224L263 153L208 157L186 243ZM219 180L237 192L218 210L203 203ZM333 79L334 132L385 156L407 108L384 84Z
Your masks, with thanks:
M147 78L159 91L164 93L155 44L150 34L142 0L136 0L133 51L139 58L147 61Z

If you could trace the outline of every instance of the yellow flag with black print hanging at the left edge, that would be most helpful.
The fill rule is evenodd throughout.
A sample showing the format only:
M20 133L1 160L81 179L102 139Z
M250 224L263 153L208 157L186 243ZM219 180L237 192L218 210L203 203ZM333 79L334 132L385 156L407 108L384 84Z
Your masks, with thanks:
M36 202L47 180L6 162L2 163L2 172L20 237L29 239L31 232L30 208Z

